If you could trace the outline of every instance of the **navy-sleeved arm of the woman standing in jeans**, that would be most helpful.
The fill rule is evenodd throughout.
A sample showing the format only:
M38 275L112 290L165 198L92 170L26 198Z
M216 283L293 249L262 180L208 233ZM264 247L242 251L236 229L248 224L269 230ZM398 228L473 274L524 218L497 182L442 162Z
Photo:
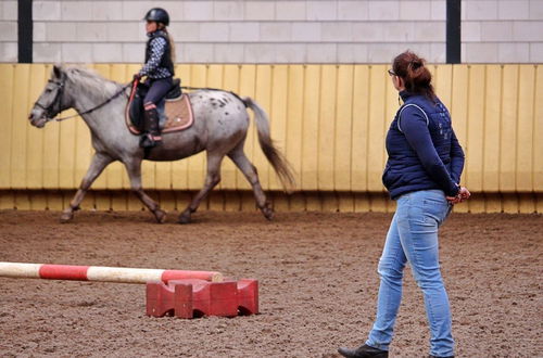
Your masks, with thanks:
M447 196L456 196L459 188L451 178L433 146L428 124L422 112L415 106L408 106L402 112L399 120L401 122L400 127L402 132L405 135L411 148L417 153L420 163L422 163L430 178L443 189Z

